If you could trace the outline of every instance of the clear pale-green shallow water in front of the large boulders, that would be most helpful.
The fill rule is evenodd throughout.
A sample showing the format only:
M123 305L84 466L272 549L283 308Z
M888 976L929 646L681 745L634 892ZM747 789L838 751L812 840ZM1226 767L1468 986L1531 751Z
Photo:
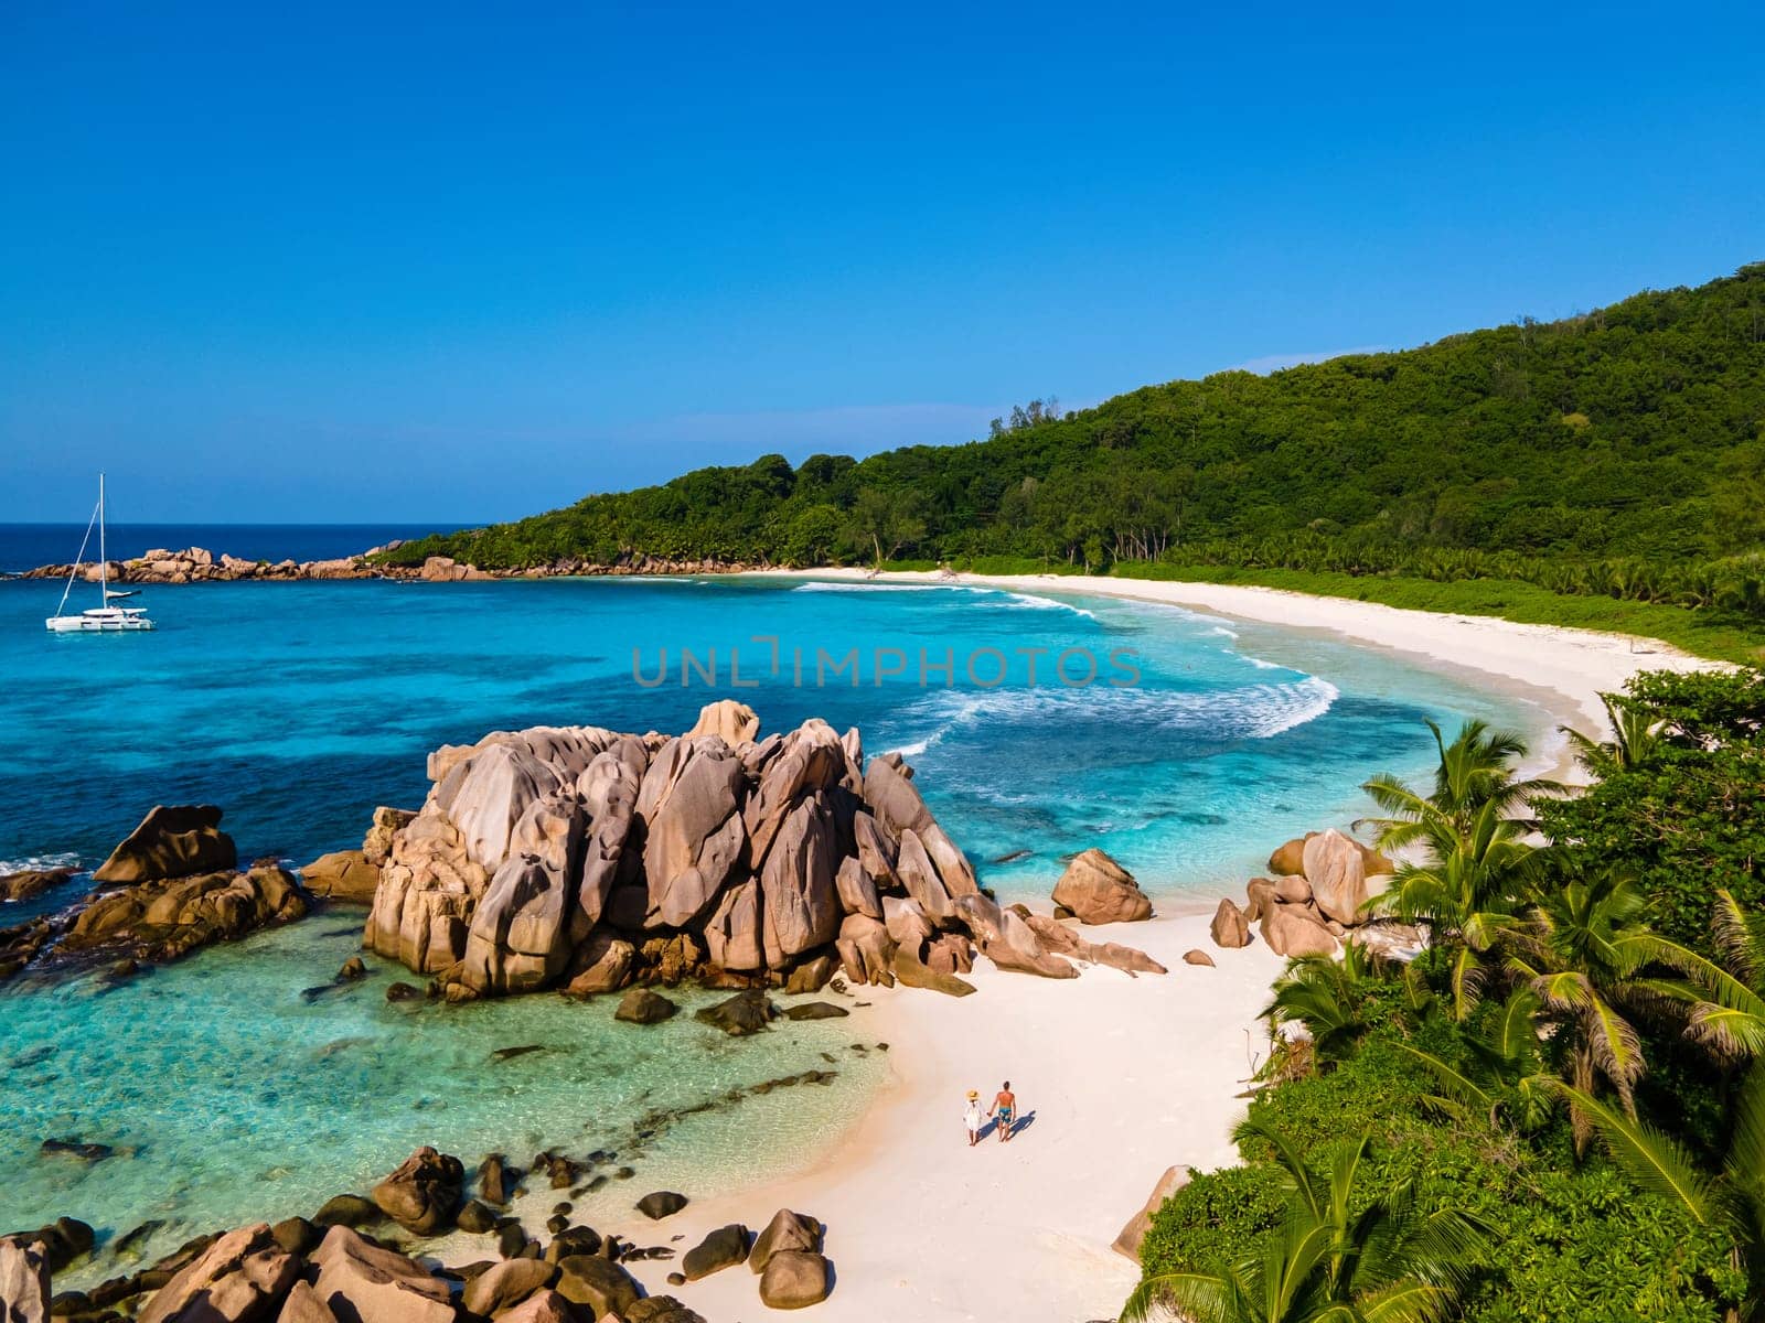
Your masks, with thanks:
M143 1242L150 1259L245 1217L365 1194L424 1143L468 1166L496 1150L526 1164L542 1148L579 1159L604 1148L616 1157L597 1171L688 1170L697 1192L752 1171L743 1136L754 1129L766 1159L789 1171L814 1154L833 1110L861 1108L886 1069L886 1055L849 1046L865 1011L778 1021L738 1041L692 1020L717 1000L695 990L669 993L681 1002L672 1020L637 1027L612 1020L611 997L392 1004L385 986L409 975L374 961L369 979L305 1002L302 988L330 983L357 953L358 916L321 912L122 988L86 977L0 998L4 1230L72 1214L115 1240L164 1219ZM540 1050L494 1057L526 1046ZM810 1069L837 1076L727 1101ZM711 1101L680 1129L634 1131L657 1110ZM42 1138L106 1143L116 1155L41 1157ZM644 1189L627 1187L625 1205ZM95 1259L79 1277L108 1275L109 1256Z

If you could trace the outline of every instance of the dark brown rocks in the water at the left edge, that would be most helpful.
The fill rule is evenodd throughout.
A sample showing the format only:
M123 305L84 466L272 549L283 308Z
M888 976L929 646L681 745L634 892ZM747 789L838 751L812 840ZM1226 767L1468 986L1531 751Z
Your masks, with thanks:
M155 806L92 875L108 884L78 908L0 930L0 979L55 956L83 963L171 961L305 916L295 877L261 861L240 871L212 804Z

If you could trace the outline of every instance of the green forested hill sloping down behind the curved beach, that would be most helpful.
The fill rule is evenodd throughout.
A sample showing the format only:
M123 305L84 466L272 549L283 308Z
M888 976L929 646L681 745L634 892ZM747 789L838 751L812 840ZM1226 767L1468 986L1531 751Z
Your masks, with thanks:
M1756 263L1557 323L1172 381L1077 413L1034 404L969 445L699 469L395 559L1250 566L1520 579L1753 617L1761 549Z

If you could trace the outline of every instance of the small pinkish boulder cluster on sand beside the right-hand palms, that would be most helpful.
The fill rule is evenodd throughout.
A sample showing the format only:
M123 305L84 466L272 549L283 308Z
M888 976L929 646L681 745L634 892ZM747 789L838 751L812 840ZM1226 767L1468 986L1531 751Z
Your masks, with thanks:
M1408 924L1377 919L1366 908L1386 889L1394 864L1334 827L1290 840L1269 856L1271 877L1251 878L1246 903L1230 896L1214 910L1214 946L1250 946L1251 924L1278 956L1334 956L1350 938L1375 947L1414 946Z

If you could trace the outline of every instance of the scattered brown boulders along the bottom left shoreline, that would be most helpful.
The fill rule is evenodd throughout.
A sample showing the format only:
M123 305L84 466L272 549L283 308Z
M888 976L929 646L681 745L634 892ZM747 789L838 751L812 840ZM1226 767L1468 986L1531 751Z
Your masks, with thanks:
M535 1175L565 1162L535 1159ZM565 1162L568 1185L575 1173ZM522 1224L494 1208L515 1194L519 1170L499 1155L477 1171L466 1198L464 1164L418 1148L374 1185L371 1198L339 1194L311 1217L274 1226L256 1222L185 1242L146 1268L124 1272L88 1291L53 1293L53 1274L92 1252L90 1226L62 1219L35 1231L0 1237L0 1319L42 1323L704 1323L669 1295L646 1295L625 1263L674 1258L671 1245L634 1245L572 1221L565 1200L547 1221L551 1242L530 1238ZM637 1201L665 1221L687 1207L672 1191ZM152 1224L152 1226L157 1226ZM145 1228L143 1228L145 1230ZM454 1230L494 1238L494 1256L461 1267L424 1267L399 1233L420 1240ZM118 1252L141 1231L118 1242ZM680 1237L674 1237L676 1240ZM833 1289L824 1256L826 1228L780 1208L750 1238L740 1222L708 1233L669 1281L685 1284L747 1263L759 1300L770 1309L801 1309ZM491 1245L487 1245L491 1249Z

